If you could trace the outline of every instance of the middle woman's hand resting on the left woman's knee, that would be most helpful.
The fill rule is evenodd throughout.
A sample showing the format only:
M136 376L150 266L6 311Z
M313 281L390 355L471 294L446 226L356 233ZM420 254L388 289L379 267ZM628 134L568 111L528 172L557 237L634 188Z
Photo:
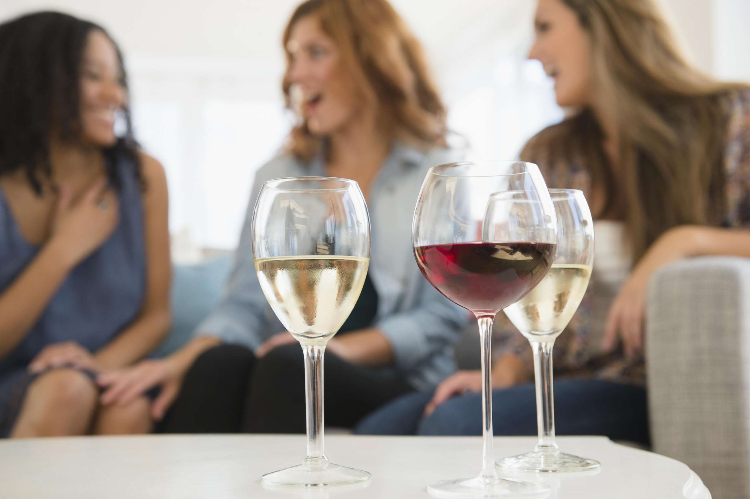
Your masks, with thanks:
M161 387L151 404L151 417L160 421L177 397L185 372L186 369L179 369L169 357L142 360L126 369L104 372L97 378L99 386L105 389L100 401L103 405L127 405L151 388Z

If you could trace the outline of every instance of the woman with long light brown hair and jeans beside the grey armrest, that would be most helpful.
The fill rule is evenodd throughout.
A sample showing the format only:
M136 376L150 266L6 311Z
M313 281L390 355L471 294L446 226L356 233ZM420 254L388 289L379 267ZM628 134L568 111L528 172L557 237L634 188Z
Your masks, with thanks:
M750 88L688 64L655 0L539 0L535 32L529 57L575 111L520 156L548 186L583 190L595 217L592 280L555 348L557 431L646 444L649 279L680 258L750 257ZM535 435L528 342L498 326L515 344L493 366L495 432ZM357 431L479 435L480 396L455 396L479 387L458 372Z

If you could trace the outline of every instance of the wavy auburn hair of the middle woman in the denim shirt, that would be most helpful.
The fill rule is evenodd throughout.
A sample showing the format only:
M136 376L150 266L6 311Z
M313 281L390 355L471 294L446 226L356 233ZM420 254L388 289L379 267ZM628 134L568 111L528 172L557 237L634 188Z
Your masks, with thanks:
M308 0L284 29L284 48L299 19L317 16L341 52L341 64L371 106L384 130L425 148L445 144L446 108L428 72L419 41L386 0ZM282 88L290 107L290 58ZM320 148L305 122L290 132L287 150L309 160Z

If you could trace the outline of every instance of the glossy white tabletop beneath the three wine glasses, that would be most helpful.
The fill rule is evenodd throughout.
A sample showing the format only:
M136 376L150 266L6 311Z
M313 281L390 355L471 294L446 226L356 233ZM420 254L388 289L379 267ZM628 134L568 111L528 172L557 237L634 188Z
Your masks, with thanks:
M496 437L496 457L532 449L535 438ZM589 476L547 478L554 499L687 498L711 495L686 465L613 444L561 437L561 450L598 459ZM135 499L429 498L437 480L479 473L479 437L329 435L332 462L370 471L365 487L266 489L260 476L299 464L304 435L151 435L0 441L0 497ZM532 480L534 480L532 478Z

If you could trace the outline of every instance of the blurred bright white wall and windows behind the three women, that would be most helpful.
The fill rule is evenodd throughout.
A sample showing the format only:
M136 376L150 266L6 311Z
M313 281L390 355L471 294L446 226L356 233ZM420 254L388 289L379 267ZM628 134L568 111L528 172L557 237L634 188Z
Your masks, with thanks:
M694 61L750 79L750 0L663 0ZM541 67L526 61L532 0L392 0L423 41L449 123L477 157L515 157L558 120ZM100 22L126 55L136 134L164 164L172 232L232 248L255 170L278 151L281 31L298 0L0 0L0 19L40 8Z

